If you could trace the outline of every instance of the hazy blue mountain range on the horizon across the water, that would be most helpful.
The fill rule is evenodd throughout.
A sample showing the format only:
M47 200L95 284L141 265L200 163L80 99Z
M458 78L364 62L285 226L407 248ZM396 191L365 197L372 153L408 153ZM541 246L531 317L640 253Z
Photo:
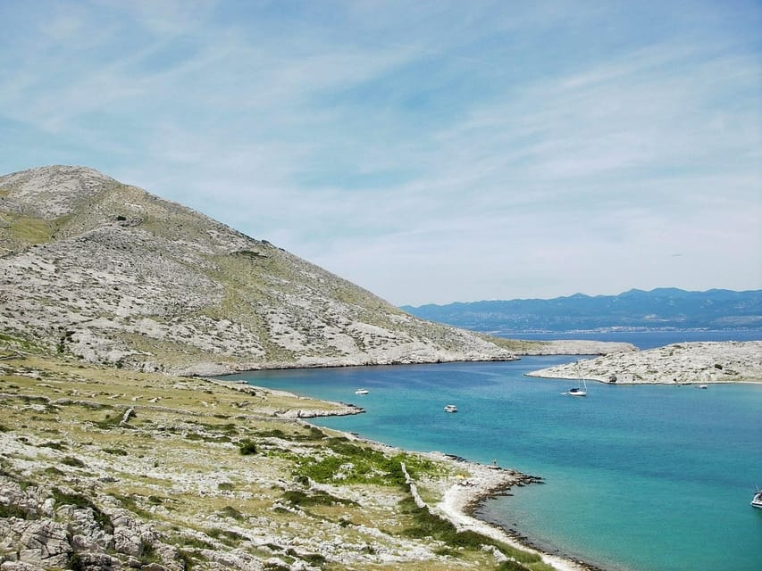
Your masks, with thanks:
M490 333L602 329L762 327L762 290L688 292L632 289L619 295L574 294L550 300L403 306L416 317Z

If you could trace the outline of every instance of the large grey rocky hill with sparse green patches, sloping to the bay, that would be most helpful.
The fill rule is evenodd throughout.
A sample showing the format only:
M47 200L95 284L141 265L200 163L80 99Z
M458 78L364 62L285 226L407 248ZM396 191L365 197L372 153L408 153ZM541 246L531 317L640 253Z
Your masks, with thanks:
M0 177L5 343L184 374L507 360L270 244L96 170Z

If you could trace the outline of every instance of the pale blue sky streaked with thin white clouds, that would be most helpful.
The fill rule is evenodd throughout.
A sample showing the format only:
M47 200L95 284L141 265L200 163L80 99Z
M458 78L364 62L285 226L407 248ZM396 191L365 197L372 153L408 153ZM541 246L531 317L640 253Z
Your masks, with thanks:
M762 3L0 0L0 173L397 305L762 288Z

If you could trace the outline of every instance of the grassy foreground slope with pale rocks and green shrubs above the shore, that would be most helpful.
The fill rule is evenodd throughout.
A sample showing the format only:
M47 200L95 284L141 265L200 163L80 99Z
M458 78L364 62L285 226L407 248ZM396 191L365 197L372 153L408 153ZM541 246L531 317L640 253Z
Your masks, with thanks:
M547 568L414 507L400 463L432 503L447 464L278 416L331 403L19 353L0 360L0 394L0 518L42 524L44 506L68 506L89 514L97 543L126 515L141 565L201 570L227 553L231 568ZM102 548L126 565L129 553ZM3 549L0 562L21 548ZM92 566L67 553L59 567Z

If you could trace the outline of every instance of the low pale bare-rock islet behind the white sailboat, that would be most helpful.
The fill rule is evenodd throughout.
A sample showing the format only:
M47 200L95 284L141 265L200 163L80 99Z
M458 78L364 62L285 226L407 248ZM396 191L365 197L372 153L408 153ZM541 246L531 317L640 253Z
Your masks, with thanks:
M762 382L762 341L674 343L640 352L543 368L528 374L603 383L708 384Z

